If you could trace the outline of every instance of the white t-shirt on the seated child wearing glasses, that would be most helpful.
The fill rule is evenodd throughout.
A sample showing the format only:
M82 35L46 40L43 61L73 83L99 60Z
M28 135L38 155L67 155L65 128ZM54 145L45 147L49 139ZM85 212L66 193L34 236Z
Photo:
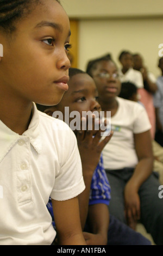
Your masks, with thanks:
M118 109L111 117L110 141L103 149L105 169L135 167L138 159L134 144L134 133L151 129L146 110L140 103L116 97Z

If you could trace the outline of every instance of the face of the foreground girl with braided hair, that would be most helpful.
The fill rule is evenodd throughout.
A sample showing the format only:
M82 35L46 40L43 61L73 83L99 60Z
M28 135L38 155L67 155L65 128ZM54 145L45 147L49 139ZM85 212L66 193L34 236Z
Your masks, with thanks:
M68 89L70 22L57 1L42 3L17 22L11 39L1 34L0 83L10 101L55 105Z

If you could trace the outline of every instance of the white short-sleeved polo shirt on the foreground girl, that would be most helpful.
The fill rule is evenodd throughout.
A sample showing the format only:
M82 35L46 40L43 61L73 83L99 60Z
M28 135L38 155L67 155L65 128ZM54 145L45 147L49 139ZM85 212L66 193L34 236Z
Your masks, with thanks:
M67 200L85 188L76 137L34 105L23 135L0 121L0 138L0 245L51 245L49 196Z

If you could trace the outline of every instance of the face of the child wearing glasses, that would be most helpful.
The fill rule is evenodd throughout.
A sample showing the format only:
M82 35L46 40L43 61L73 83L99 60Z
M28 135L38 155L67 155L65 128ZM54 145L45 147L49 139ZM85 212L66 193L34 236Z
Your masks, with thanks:
M101 74L110 76L101 77ZM117 67L110 60L97 63L96 69L92 71L92 77L96 83L99 98L109 99L120 93L121 82L118 78Z

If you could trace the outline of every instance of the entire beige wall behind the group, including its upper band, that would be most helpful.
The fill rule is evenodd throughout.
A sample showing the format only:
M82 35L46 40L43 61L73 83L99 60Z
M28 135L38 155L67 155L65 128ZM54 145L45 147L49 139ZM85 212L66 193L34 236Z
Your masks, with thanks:
M110 52L118 65L121 50L139 52L155 76L163 44L162 0L61 0L68 16L79 20L78 68Z

